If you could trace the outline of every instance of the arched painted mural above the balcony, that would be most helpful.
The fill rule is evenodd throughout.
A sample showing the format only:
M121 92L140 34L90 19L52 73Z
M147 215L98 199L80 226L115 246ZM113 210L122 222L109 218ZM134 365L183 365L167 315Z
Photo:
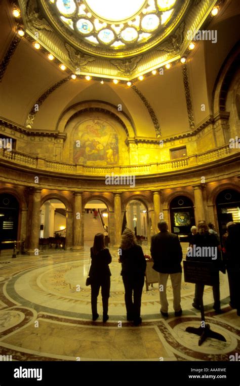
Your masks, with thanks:
M119 162L117 132L108 122L88 119L75 129L73 139L74 163L113 165Z

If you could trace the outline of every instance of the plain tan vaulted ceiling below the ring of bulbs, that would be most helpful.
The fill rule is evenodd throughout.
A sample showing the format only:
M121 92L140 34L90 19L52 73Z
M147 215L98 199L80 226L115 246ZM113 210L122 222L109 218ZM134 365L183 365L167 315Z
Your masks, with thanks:
M199 7L205 1L193 0L192 3L192 10L201 9ZM114 105L116 109L122 105L123 113L133 122L138 136L156 137L156 120L163 137L189 131L186 87L189 87L196 127L209 117L211 94L219 69L239 39L238 0L222 3L219 14L211 19L210 24L211 28L218 30L218 42L196 42L195 49L188 52L187 78L178 60L169 70L164 67L163 75L150 73L142 82L136 80L132 87L128 87L126 82L115 85L107 79L104 79L104 84L97 78L91 81L81 76L71 79L71 72L61 71L57 59L48 59L45 47L41 50L33 47L33 40L27 33L22 39L16 38L18 22L12 16L10 3L3 0L0 10L0 59L3 60L0 116L24 126L35 103L41 101L29 128L55 130L66 109L85 100L98 100ZM50 34L51 31L47 32ZM17 42L15 45L14 41ZM64 79L67 81L59 84ZM204 112L199 108L201 103L206 103Z

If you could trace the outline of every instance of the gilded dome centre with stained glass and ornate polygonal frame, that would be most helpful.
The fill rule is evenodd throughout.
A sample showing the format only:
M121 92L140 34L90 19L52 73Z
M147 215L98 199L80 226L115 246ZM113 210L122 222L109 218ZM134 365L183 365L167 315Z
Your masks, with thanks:
M216 0L20 0L25 30L77 75L133 80L179 60Z

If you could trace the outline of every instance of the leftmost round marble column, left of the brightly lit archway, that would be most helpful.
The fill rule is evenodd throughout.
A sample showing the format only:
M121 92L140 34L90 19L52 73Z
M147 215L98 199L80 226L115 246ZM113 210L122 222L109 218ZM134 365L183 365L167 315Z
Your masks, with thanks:
M32 212L31 212L31 230L29 237L28 255L34 255L39 244L40 232L40 210L41 210L41 189L34 189L31 195Z

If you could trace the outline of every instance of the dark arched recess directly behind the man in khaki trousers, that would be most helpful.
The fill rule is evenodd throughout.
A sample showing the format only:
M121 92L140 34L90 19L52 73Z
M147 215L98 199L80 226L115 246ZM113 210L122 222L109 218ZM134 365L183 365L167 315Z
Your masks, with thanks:
M181 241L187 241L192 225L195 225L193 203L186 196L177 196L170 203L171 231Z

